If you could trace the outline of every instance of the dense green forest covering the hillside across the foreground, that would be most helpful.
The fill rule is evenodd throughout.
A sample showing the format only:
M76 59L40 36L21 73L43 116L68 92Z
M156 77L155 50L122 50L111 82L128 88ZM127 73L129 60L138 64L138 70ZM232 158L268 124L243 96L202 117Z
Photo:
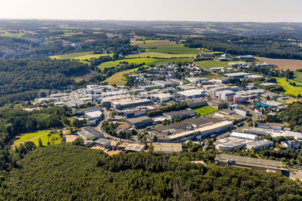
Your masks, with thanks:
M219 167L207 152L106 156L69 144L37 148L0 177L0 200L302 200L281 174ZM207 166L189 160L208 161ZM274 182L272 182L274 181Z

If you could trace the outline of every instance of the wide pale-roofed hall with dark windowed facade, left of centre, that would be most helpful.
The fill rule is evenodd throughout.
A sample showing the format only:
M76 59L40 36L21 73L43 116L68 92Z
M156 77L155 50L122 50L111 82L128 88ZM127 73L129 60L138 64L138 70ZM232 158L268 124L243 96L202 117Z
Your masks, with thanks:
M114 109L120 109L120 108L129 108L129 107L135 107L140 105L146 105L150 103L151 100L149 99L125 98L125 99L112 101L111 107L113 107Z

